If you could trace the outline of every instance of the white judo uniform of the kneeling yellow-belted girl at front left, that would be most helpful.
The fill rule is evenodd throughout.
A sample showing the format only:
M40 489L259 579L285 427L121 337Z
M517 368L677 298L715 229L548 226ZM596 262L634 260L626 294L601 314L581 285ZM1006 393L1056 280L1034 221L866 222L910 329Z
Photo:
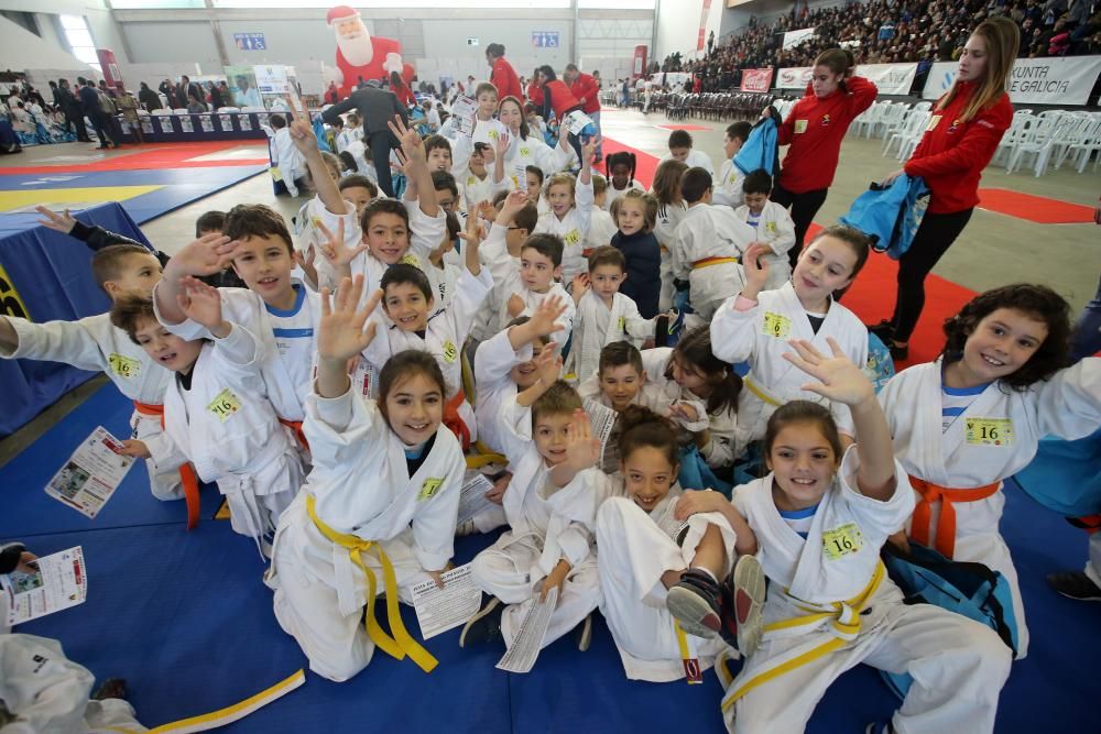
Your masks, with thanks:
M368 578L348 548L330 540L309 517L340 534L377 545L360 554L383 593L380 554L396 576L401 601L443 569L454 555L455 518L466 462L446 427L436 431L428 456L408 474L405 449L373 401L348 391L306 401L306 437L314 452L308 482L280 517L268 584L275 590L275 617L309 658L309 669L348 680L371 661L375 644L363 626ZM381 612L377 611L377 614Z

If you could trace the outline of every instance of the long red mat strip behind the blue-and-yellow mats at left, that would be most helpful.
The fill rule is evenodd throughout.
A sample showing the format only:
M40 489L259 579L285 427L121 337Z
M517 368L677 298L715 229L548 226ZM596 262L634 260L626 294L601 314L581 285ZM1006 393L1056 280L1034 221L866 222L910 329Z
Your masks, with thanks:
M239 155L218 158L217 154L232 149L252 149L248 157ZM106 171L150 171L159 168L216 168L221 166L268 165L268 145L263 141L221 140L206 143L148 143L124 145L126 155L89 163L58 162L56 165L0 167L0 175L47 174L47 173L94 173ZM253 152L254 151L254 152ZM196 161L201 156L214 156L208 161ZM73 156L76 157L76 156Z

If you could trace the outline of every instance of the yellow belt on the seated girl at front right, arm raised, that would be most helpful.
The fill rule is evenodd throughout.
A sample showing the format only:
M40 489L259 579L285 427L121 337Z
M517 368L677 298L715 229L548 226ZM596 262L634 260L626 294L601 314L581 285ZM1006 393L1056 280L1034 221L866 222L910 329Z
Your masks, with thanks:
M847 643L854 639L860 633L860 613L864 610L864 606L868 605L868 601L875 593L875 590L880 588L880 582L883 581L886 569L883 567L883 563L880 562L875 566L875 572L872 574L872 580L868 582L864 590L849 601L814 605L797 604L797 606L806 612L809 612L809 614L765 625L764 631L767 633L775 629L789 629L792 627L817 625L822 620L830 620L830 626L827 629L830 638L819 645L810 646L809 649L792 657L791 659L784 660L783 662L778 662L774 666L768 666L755 676L738 682L734 689L727 694L726 698L723 698L722 710L726 711L730 706L734 705L734 702L738 701L738 699L742 698L757 686L766 683L774 678L778 678L786 672L791 672L796 668L800 668L825 655L829 655L833 650L844 647Z

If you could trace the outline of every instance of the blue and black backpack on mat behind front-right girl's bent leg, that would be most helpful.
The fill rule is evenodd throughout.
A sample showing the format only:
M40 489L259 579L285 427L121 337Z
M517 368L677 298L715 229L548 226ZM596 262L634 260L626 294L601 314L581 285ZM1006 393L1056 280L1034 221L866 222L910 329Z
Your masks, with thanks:
M894 545L883 545L881 557L891 580L898 584L907 604L933 604L986 625L1017 651L1017 623L1013 615L1010 582L982 563L945 558L931 548L909 541L909 555ZM887 688L906 698L914 680L906 673L881 670Z

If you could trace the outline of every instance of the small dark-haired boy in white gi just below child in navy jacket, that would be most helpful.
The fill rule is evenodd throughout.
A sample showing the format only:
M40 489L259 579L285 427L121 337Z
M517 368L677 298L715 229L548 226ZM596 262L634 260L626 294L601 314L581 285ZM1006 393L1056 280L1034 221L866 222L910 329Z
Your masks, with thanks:
M577 315L566 373L578 382L596 374L600 350L607 344L629 340L642 347L654 337L654 319L642 318L634 300L619 292L625 277L623 253L604 245L589 254L588 274L574 278Z

